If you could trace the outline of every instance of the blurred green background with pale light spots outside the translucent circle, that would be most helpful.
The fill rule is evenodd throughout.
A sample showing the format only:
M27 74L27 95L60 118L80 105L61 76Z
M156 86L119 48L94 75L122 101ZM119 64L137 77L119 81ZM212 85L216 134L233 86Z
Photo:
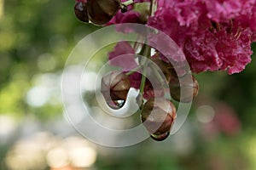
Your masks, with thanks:
M256 169L255 44L240 74L195 75L200 94L166 141L114 149L76 133L63 116L61 73L79 40L99 27L79 22L73 5L0 0L0 169Z

